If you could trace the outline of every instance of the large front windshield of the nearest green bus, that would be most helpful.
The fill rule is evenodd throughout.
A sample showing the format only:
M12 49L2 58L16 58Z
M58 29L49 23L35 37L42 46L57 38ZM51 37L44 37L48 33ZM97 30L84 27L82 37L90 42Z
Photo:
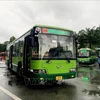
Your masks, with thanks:
M39 52L41 59L74 58L73 37L39 34Z

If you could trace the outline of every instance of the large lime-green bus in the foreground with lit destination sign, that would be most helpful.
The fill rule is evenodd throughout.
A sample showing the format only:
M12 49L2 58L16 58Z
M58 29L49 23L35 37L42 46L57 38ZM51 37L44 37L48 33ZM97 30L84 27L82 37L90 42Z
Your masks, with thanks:
M7 45L6 64L17 74L40 81L75 78L75 34L64 28L35 25Z

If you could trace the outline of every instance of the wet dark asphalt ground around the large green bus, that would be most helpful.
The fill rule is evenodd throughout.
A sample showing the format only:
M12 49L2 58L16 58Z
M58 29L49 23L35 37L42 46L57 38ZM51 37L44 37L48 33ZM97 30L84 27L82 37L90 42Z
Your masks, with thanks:
M82 70L77 78L64 80L65 84L28 86L0 62L0 100L100 100L100 78L95 78L100 74L92 70L96 73L91 82L83 78L90 76Z

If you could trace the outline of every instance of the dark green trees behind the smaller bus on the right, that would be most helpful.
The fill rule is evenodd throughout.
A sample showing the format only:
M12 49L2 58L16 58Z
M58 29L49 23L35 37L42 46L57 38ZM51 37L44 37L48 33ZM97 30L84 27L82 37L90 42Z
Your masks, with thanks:
M100 26L95 28L86 28L78 32L79 48L89 47L96 48L100 47Z

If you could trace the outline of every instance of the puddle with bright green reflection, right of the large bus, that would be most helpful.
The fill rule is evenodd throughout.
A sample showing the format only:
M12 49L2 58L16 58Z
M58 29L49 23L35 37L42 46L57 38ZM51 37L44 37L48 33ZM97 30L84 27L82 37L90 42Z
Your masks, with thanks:
M77 77L91 83L100 84L100 69L95 66L77 67Z

